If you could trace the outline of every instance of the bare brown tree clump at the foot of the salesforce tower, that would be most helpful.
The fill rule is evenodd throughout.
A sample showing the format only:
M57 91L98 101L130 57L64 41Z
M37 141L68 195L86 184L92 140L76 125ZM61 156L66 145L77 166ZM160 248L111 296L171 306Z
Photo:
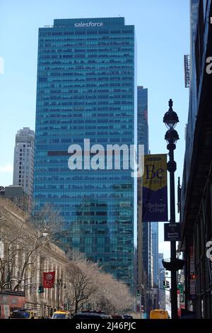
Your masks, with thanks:
M86 260L83 254L69 252L66 269L66 300L77 312L81 305L93 304L95 309L107 313L132 310L134 298L126 284L105 273L98 264Z

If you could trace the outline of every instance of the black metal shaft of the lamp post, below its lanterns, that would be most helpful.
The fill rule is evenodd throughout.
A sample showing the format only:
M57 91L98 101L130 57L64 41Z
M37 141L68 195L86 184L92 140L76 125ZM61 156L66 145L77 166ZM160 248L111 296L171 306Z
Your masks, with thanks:
M175 223L175 169L176 164L174 160L174 149L175 144L171 140L169 146L170 151L170 223ZM176 242L171 243L171 261L176 259ZM172 309L172 319L177 319L177 271L172 269L171 271L171 309Z

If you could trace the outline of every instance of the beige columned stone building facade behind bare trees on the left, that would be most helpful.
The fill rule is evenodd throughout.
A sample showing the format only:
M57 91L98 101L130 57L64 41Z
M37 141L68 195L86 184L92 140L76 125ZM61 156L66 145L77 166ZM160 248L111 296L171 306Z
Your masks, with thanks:
M67 259L64 251L57 245L45 240L40 242L42 237L36 239L32 236L37 231L28 222L28 218L29 216L11 201L0 198L0 292L4 294L14 290L18 277L23 276L23 281L15 292L17 295L20 292L25 293L25 307L35 310L40 317L50 316L54 308L64 305L64 288L66 287L64 269ZM13 245L9 253L7 244L11 242L11 239L13 239ZM33 244L30 242L38 241L40 247L38 246L33 252ZM28 255L26 249L28 252L31 251L32 255L28 265L23 269ZM15 255L12 256L12 252ZM30 261L32 264L29 264ZM54 288L44 288L44 293L38 293L39 286L43 284L43 272L48 271L55 271ZM8 302L6 297L0 300L1 310L5 305L12 307L12 310L16 307L15 304L12 306L4 304L5 302Z

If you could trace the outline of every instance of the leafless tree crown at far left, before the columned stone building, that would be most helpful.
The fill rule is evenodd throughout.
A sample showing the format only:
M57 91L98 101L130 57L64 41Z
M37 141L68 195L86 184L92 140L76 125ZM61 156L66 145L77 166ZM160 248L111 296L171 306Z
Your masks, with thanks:
M46 205L37 215L0 201L0 289L18 290L34 276L37 256L52 242L60 227L59 215Z

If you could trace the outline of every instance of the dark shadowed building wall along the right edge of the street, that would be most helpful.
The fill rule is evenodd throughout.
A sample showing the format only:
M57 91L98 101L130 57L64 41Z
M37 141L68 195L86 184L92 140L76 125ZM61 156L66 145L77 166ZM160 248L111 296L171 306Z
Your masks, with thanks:
M192 8L192 7L191 7ZM195 8L195 7L194 7ZM185 304L198 318L212 317L212 269L207 242L212 236L212 77L206 71L211 56L211 0L199 1L195 38L192 40L192 82L181 196ZM193 28L193 26L192 26Z

